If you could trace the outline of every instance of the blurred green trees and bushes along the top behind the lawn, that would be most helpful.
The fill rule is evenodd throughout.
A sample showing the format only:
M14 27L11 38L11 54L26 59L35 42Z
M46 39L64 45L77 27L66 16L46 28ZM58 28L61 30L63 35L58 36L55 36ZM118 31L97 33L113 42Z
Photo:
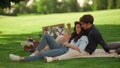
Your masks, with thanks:
M120 0L92 0L93 4L88 4L90 0L84 0L84 6L80 7L77 0L34 0L33 4L26 7L28 0L1 0L0 14L5 14L3 8L12 8L13 15L17 14L50 14L50 13L65 13L65 12L86 12L94 10L115 9L120 8ZM16 3L11 6L10 2ZM8 13L9 15L10 13Z

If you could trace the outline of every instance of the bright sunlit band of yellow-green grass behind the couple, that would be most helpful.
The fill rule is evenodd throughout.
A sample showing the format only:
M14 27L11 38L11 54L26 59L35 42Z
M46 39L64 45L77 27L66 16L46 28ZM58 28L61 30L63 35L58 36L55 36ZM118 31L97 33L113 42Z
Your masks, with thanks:
M2 32L1 34L33 33L41 31L43 26L59 23L71 23L74 26L73 22L79 20L83 14L92 14L95 18L95 25L120 25L118 21L120 18L120 9L116 9L85 13L3 17L0 19L0 32Z

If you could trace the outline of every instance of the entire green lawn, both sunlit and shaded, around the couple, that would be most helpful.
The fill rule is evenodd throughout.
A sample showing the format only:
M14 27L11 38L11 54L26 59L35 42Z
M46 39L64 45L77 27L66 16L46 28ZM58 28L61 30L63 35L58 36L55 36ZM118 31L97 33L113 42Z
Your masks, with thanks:
M58 23L71 23L79 20L83 14L92 14L95 25L101 31L107 43L120 40L120 9L82 13L63 13L49 15L26 15L18 17L0 16L0 68L118 68L120 59L82 58L45 63L44 60L13 62L8 55L21 56L24 52L21 41L33 37L40 39L41 27ZM100 47L100 46L99 46Z

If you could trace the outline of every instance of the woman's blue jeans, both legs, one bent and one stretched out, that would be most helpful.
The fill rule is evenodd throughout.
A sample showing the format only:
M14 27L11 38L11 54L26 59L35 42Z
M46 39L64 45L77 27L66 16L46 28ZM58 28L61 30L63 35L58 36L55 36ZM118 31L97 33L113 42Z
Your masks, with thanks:
M57 42L48 34L43 36L40 44L37 46L36 49L38 51L41 51L46 46L46 44L48 44L50 50L40 52L38 55L35 56L25 57L25 61L38 60L44 58L45 56L55 57L62 55L68 51L67 47L58 45Z

